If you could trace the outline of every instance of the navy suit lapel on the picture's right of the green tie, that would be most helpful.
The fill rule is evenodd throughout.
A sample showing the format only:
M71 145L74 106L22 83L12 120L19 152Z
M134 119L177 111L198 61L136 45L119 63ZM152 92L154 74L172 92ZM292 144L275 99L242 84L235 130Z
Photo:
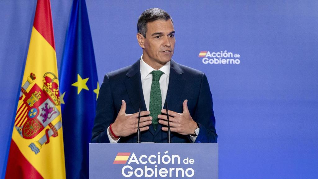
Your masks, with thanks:
M167 91L166 102L168 104L168 110L175 109L180 96L183 93L184 89L184 81L185 79L182 77L183 71L180 66L171 59L170 63L170 74L169 74L169 86ZM166 104L164 104L163 109L166 109ZM162 125L158 124L156 129L156 134L161 131Z

